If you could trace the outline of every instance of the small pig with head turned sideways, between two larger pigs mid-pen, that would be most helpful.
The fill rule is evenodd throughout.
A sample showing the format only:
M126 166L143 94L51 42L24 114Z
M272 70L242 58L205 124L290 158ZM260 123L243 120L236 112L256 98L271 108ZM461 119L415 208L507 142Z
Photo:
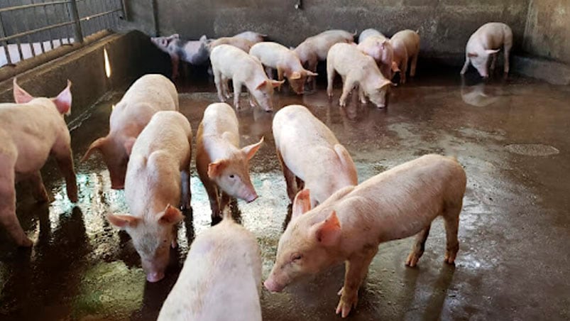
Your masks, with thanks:
M238 50L238 49L236 49ZM258 197L249 178L249 160L263 143L239 148L238 119L229 104L210 104L198 127L196 169L209 197L212 220L221 217L229 197L253 202Z

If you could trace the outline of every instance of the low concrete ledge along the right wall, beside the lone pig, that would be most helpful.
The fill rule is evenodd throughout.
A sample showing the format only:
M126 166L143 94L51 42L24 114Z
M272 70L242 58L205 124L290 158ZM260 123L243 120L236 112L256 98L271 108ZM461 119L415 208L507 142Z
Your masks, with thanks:
M513 55L511 64L513 71L521 75L538 78L552 85L570 85L570 66L561 62Z

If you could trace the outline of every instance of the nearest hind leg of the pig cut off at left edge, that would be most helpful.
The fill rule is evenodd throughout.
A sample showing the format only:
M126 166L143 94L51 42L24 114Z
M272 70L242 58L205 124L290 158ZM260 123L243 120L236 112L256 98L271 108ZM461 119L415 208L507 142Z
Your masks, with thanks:
M33 241L28 239L26 233L16 217L16 190L14 190L15 160L0 155L0 223L16 241L18 246L32 246Z

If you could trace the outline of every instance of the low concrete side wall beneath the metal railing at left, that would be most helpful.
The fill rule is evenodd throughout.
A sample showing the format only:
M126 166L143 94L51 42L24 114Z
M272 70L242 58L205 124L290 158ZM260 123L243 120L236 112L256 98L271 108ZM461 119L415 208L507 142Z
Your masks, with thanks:
M111 65L111 77L106 77L104 50ZM46 62L26 72L18 73L18 85L36 97L54 97L65 88L67 80L72 85L73 121L109 92L128 80L146 73L170 75L170 58L158 50L148 36L139 31L116 33L94 43ZM13 102L12 80L0 82L0 102Z

